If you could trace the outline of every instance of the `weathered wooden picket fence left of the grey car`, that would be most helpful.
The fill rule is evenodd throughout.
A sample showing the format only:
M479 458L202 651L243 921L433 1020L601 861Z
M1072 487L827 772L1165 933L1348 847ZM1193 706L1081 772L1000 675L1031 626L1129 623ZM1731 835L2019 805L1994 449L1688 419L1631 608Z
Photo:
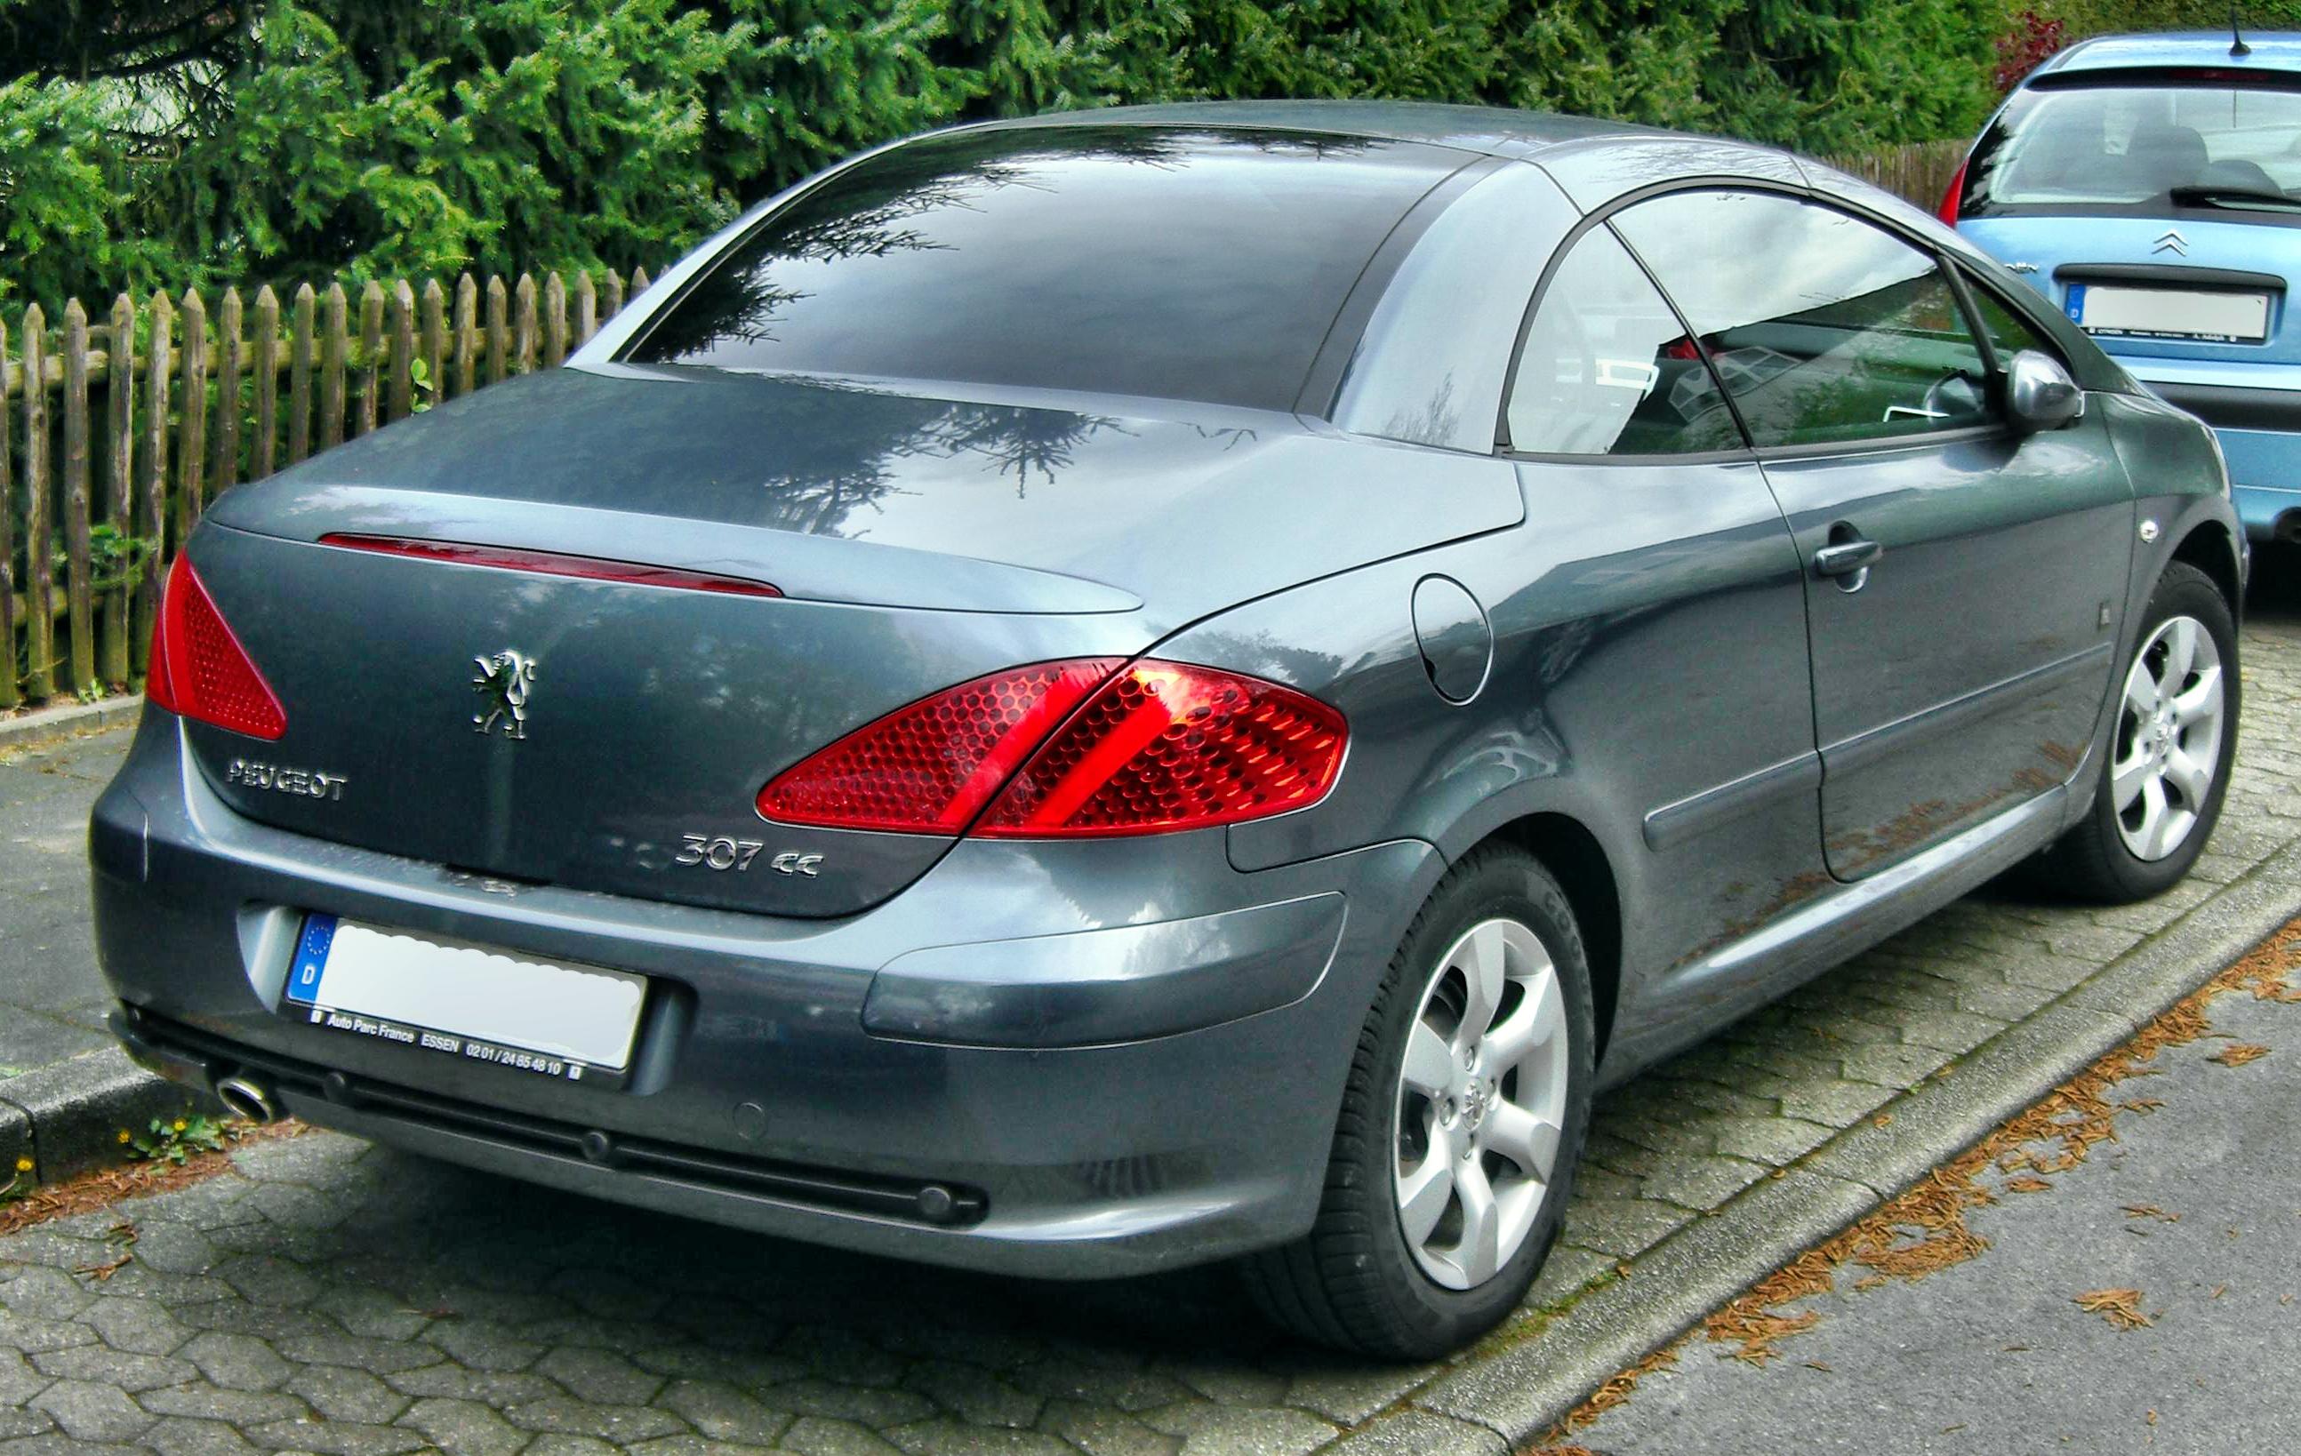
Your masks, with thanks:
M161 570L221 490L557 366L624 299L614 271L465 274L453 294L400 278L357 301L306 283L285 311L228 288L214 306L120 294L108 320L78 299L60 324L39 304L0 317L0 711L138 681Z

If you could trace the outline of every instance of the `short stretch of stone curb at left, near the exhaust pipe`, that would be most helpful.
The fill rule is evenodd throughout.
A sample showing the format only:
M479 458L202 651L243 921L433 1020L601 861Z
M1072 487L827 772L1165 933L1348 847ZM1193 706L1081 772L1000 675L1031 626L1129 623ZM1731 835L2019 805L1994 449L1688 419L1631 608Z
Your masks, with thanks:
M117 1047L0 1081L0 1168L30 1157L39 1182L120 1162L120 1129L184 1109L221 1113L214 1097L152 1076Z

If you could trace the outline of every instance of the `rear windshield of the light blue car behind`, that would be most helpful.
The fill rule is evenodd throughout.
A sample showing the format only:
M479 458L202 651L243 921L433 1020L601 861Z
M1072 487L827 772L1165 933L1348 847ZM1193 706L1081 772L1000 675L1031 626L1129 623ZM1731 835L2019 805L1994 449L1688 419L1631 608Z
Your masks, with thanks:
M2301 90L2163 76L2018 94L1967 163L1965 216L2301 219Z

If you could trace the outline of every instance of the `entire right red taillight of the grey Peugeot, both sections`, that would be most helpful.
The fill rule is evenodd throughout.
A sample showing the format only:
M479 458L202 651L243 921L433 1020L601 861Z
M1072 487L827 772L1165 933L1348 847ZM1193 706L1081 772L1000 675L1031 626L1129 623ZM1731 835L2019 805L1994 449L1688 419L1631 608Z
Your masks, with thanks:
M1341 713L1261 679L1042 662L856 729L762 789L759 812L1008 840L1208 828L1318 803L1344 741Z

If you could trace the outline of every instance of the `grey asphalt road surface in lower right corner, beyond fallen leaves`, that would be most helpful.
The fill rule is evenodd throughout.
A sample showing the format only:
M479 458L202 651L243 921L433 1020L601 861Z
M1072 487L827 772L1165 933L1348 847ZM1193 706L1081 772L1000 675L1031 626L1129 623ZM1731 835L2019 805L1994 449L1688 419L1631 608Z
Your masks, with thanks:
M1967 1214L1990 1242L1979 1258L1871 1290L1843 1272L1786 1306L1820 1323L1763 1369L1696 1336L1574 1440L1608 1456L2301 1449L2301 1005L2237 991L2209 1017L2211 1035L2112 1093L2163 1106L2119 1116L2117 1141L2050 1189L1983 1175L1997 1203ZM2214 1060L2230 1047L2269 1053ZM2076 1302L2112 1288L2151 1323Z

